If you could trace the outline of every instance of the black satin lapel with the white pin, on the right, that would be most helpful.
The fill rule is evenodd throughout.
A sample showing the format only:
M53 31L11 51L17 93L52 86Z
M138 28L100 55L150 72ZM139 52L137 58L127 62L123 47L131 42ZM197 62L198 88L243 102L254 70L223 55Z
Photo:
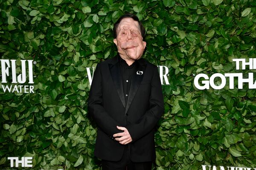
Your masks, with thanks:
M135 96L135 94L136 94L136 92L137 92L137 90L140 86L140 83L141 83L141 81L143 79L143 76L145 74L145 68L146 68L146 65L138 64L135 71L134 71L134 75L133 75L132 80L131 80L130 93L129 93L126 108L125 108L125 114L128 112L128 109L131 105L131 102L134 99L134 96ZM143 74L141 74L141 72L137 74L137 71L143 71Z

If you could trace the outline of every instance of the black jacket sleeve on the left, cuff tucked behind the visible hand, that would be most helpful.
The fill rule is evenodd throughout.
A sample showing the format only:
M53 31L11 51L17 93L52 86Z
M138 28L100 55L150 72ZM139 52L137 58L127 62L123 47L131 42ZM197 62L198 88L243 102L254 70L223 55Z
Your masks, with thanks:
M93 74L93 81L90 87L87 106L89 114L93 117L97 126L112 139L113 134L122 132L116 128L117 125L119 126L119 123L109 116L103 107L102 74L100 64L96 66Z

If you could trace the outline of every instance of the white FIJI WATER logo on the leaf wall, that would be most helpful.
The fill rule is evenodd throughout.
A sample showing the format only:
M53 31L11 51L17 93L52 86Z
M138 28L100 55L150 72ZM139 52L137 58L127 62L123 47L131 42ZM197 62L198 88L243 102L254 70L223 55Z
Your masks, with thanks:
M33 64L36 62L33 60L20 60L21 74L17 75L17 64L16 59L0 59L1 62L1 86L3 92L9 93L35 93L34 92L34 79L33 79ZM27 67L26 67L27 66ZM27 80L28 74L28 80ZM7 77L12 77L10 82ZM23 85L24 83L31 85ZM12 83L12 84L11 84ZM11 85L10 85L11 84Z

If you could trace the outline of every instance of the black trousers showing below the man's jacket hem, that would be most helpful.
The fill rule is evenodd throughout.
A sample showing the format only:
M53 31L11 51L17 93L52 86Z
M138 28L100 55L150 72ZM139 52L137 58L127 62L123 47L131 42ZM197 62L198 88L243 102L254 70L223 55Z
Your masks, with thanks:
M128 145L120 161L102 160L102 170L151 170L152 161L132 162L129 156Z

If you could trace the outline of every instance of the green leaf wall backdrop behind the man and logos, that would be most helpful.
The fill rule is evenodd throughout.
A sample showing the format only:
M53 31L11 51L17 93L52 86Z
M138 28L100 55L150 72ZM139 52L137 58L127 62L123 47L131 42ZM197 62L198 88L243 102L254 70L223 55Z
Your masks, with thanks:
M255 89L193 85L199 73L255 72L232 62L256 58L255 0L0 0L0 58L17 59L17 73L36 62L35 93L0 87L0 167L32 156L33 169L101 169L86 68L116 55L113 23L127 12L146 28L144 57L169 68L154 169L256 167Z

